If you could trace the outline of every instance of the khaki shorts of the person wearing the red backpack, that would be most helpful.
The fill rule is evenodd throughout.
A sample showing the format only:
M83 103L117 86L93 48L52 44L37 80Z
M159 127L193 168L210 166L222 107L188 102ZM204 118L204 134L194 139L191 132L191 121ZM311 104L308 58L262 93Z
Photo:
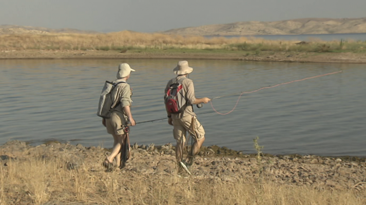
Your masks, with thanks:
M190 128L191 121L192 121L191 115L187 115L180 119L173 118L173 125L174 125L173 136L177 141L182 140L182 137L183 137L183 143L185 143L187 132L190 132L189 128ZM196 136L197 139L201 139L202 137L205 136L205 130L203 129L202 125L197 120L197 118L195 119L195 121L196 121L196 123L194 125L195 133L191 133L191 134L193 134L193 136ZM194 139L195 139L195 137L194 137Z

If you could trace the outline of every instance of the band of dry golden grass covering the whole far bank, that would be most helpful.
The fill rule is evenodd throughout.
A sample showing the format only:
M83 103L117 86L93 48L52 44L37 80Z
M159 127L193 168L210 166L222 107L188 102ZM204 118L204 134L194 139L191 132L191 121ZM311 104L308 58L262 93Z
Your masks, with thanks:
M264 40L246 37L213 37L167 35L122 31L107 34L11 34L0 35L2 50L133 50L133 49L209 49L242 51L363 52L366 42L312 39L296 45L294 40Z

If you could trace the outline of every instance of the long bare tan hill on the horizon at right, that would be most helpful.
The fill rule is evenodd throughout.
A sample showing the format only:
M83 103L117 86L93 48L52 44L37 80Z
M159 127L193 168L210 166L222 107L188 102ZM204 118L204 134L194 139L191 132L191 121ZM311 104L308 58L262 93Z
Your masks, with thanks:
M181 35L288 35L366 33L364 18L299 18L278 22L237 22L163 31Z

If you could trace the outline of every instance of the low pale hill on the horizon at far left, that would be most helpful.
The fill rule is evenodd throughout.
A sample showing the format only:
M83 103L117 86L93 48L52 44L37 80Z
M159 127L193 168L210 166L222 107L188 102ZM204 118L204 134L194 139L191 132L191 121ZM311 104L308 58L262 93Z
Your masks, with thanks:
M16 26L16 25L1 25L0 35L2 34L23 34L23 33L99 33L97 31L84 31L78 29L49 29L43 27L32 26Z

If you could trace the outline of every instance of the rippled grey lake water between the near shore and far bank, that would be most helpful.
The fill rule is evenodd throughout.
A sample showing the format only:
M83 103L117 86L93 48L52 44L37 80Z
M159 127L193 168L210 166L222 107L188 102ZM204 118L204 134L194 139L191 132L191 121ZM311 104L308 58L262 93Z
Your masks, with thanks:
M178 60L127 60L134 72L132 114L137 122L166 117L163 90ZM105 80L113 80L120 60L1 60L0 144L33 145L59 140L84 146L112 146L95 113ZM205 146L255 153L366 156L366 69L362 64L269 63L189 60L197 97L217 97L343 70L242 95L228 115L209 104L195 108L206 130ZM228 112L238 95L213 100ZM204 113L204 114L200 114ZM131 127L131 144L175 145L166 120Z

